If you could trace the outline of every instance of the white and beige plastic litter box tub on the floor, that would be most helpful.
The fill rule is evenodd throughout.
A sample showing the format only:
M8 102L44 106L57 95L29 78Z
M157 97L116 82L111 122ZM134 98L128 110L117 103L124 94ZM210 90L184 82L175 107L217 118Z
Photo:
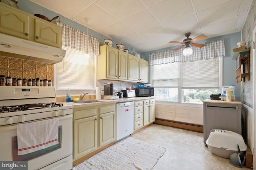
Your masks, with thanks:
M212 129L206 144L210 152L228 159L232 153L238 153L237 145L241 154L247 149L242 135L221 129Z

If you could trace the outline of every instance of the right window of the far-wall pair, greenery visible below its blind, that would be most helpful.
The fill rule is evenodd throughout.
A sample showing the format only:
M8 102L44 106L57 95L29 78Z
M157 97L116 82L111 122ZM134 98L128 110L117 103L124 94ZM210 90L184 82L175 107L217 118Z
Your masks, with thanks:
M182 63L182 102L201 103L219 87L219 57Z

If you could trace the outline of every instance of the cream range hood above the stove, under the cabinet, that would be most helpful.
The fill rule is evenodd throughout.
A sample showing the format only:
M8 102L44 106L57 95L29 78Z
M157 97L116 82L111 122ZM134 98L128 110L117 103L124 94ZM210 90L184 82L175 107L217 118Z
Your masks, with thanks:
M61 62L66 51L0 33L0 56L55 64Z

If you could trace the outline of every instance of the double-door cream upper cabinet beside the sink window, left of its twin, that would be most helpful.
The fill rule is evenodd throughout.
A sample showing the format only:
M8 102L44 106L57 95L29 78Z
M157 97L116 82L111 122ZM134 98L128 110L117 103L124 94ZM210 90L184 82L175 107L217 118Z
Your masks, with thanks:
M98 80L127 80L128 54L103 45L97 57Z

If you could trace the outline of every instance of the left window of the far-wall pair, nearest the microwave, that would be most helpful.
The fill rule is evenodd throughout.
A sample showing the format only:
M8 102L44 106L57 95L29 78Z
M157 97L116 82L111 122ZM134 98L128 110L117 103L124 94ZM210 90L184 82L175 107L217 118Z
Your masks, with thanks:
M180 86L180 63L168 63L151 66L152 86L156 100L178 102Z

